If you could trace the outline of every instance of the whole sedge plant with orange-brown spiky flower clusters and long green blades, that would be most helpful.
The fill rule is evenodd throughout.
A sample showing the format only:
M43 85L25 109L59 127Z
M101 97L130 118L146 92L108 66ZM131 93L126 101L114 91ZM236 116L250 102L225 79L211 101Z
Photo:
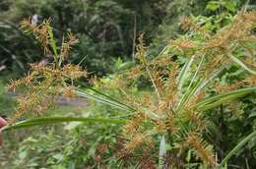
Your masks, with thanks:
M33 33L41 43L45 54L52 55L53 62L31 64L26 78L10 84L12 89L21 84L27 89L18 98L11 125L4 130L70 121L123 124L125 141L116 157L138 161L135 165L141 168L191 168L187 164L190 161L204 168L222 168L237 149L255 137L254 132L238 143L224 160L204 137L212 123L208 110L256 90L256 65L251 62L256 51L255 12L237 14L231 24L216 32L205 23L185 18L181 26L186 34L170 40L156 57L149 56L141 34L134 67L116 75L109 86L102 86L117 90L116 97L88 85L86 89L73 85L74 80L88 75L79 66L64 62L77 39L69 33L68 40L58 48L49 24L48 20L37 27L28 20L22 23L25 32ZM242 78L219 84L216 79L233 67L242 70ZM134 87L141 81L151 87L137 94ZM125 112L128 118L39 117L19 121L27 113L41 115L54 104L56 95L93 99Z

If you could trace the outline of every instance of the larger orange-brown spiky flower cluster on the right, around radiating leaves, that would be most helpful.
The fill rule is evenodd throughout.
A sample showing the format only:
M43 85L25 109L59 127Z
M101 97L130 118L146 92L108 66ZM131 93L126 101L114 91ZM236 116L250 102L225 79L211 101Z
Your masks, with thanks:
M143 145L149 146L145 142L151 141L151 137L160 134L169 136L176 143L173 146L180 151L192 147L206 165L216 167L213 149L201 137L211 123L196 105L209 95L205 86L214 84L213 79L232 63L245 70L254 68L255 64L249 66L248 62L242 62L250 55L239 58L233 55L242 53L241 50L248 54L254 50L251 43L255 45L256 42L252 31L255 21L254 12L238 14L229 26L209 33L186 18L182 27L191 31L190 36L170 40L157 57L148 57L143 35L139 37L135 55L138 65L114 81L118 82L115 86L122 91L122 98L136 109L123 128L126 152L136 153ZM186 56L187 62L177 58L179 55ZM217 93L255 85L255 75L245 73L244 77L234 84L216 84ZM135 95L133 87L140 81L152 84L151 91Z

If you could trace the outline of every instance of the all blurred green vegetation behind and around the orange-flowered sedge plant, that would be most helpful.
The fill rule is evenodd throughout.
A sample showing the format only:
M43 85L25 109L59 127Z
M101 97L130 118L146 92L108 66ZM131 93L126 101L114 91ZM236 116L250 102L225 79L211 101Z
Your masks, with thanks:
M7 92L5 88L10 79L27 74L30 69L28 63L53 60L52 56L44 55L38 41L32 35L23 33L19 24L24 18L32 16L37 24L51 18L51 26L58 39L58 45L61 45L63 38L67 36L66 32L72 31L80 42L73 47L65 62L86 68L90 78L96 75L99 81L90 86L123 100L120 91L112 86L116 86L113 81L118 77L117 74L138 62L135 55L136 45L139 43L137 38L142 32L145 46L148 46L147 55L151 60L162 51L170 39L189 36L188 31L180 24L185 17L216 33L220 28L232 23L233 16L239 11L244 8L253 11L255 5L255 2L245 0L2 0L0 2L0 115L10 116L15 109L14 98L17 93ZM202 40L196 35L194 38L198 41ZM251 47L256 46L254 44ZM174 58L190 55L190 53L170 52ZM237 53L238 56L239 51ZM251 61L254 59L255 54ZM181 57L177 62L184 65L185 60ZM225 69L215 81L231 87L234 82L244 78L241 72L238 66ZM89 81L81 79L80 83L89 84ZM130 89L140 98L144 93L151 93L152 86L149 80L141 78ZM207 92L211 95L216 90L211 86ZM251 93L239 98L230 106L221 104L207 111L207 117L211 121L211 137L209 138L209 133L204 133L204 139L210 142L210 147L218 153L220 159L224 159L237 142L255 131L255 98L255 93ZM46 117L52 115L84 118L120 117L123 120L131 118L122 110L91 100L81 102L80 99L74 104L69 101L59 102L55 107L44 112ZM122 147L121 142L124 141L121 132L120 124L99 125L93 122L86 124L72 122L10 131L5 133L5 144L1 147L0 167L150 168L149 165L143 166L140 160L134 160L132 157L130 160L124 160L118 156ZM156 136L154 139L159 149L162 138ZM228 166L226 165L225 168L255 168L255 143L255 137L246 142L228 160ZM171 151L172 144L167 143L166 148ZM176 160L176 156L170 155L169 160L172 164L166 166L208 168L195 156L193 151L188 150L178 157L178 160L182 159L180 162L182 165L171 166L179 161ZM158 159L155 159L155 163L156 161ZM156 165L151 164L151 167L156 168Z

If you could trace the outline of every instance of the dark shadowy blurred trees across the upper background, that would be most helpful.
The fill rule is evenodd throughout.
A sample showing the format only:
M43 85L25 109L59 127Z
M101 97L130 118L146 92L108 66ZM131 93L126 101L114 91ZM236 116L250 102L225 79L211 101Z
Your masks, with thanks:
M1 57L7 70L26 72L27 63L48 60L38 53L36 41L22 35L17 23L33 16L34 22L52 18L58 43L62 32L72 29L80 39L69 61L80 63L89 72L102 76L112 71L113 59L131 59L139 31L154 37L169 9L162 8L166 0L3 0L1 11ZM111 10L107 10L111 9ZM16 50L12 50L12 49ZM33 53L38 53L34 56ZM12 57L10 57L12 56ZM83 62L82 62L83 60Z

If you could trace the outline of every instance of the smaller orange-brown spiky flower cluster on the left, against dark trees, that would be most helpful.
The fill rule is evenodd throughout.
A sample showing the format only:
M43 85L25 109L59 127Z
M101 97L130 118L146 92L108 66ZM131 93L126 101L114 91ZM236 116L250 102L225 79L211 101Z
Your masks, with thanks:
M18 96L18 108L10 119L11 123L29 113L40 115L54 105L60 95L74 97L76 92L72 81L88 75L78 65L63 64L71 47L78 42L72 33L68 33L67 41L62 42L58 51L50 20L43 21L39 26L33 26L31 19L24 20L21 28L26 33L32 33L40 42L44 53L53 56L54 61L32 63L31 71L25 78L11 81L9 89L15 90L20 85L25 86L24 92Z

